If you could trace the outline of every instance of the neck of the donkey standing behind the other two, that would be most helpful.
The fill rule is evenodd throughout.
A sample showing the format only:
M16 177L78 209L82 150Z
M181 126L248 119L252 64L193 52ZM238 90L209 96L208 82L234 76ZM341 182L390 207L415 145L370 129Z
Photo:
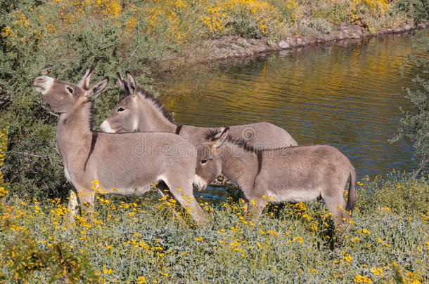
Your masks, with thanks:
M157 131L157 132L176 132L176 124L169 121L162 112L162 109L152 100L140 97L144 100L143 106L140 106L139 113L139 126L143 126L141 129L144 131ZM135 99L133 99L135 100Z

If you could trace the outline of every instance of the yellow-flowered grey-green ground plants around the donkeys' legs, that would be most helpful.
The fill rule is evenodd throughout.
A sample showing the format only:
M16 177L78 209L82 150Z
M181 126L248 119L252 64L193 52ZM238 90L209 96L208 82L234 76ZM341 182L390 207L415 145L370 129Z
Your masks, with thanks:
M428 184L419 186L428 193ZM66 208L58 199L39 203L12 198L4 216L13 218L14 224L1 235L1 243L28 232L34 240L32 249L49 252L62 244L70 255L89 259L98 271L95 275L107 282L223 283L246 277L250 283L290 279L424 283L429 277L427 213L397 213L384 205L357 210L345 234L338 237L321 203L286 205L278 217L276 210L267 211L259 224L243 218L241 201L229 200L219 207L203 203L210 224L195 229L181 228L167 202L172 201L98 198L91 217L77 216L63 226ZM1 248L4 277L36 282L64 278L50 266L25 259L28 251L23 248L30 245L22 245L9 245L6 252ZM67 269L79 267L82 259L70 257ZM61 262L52 260L50 265Z

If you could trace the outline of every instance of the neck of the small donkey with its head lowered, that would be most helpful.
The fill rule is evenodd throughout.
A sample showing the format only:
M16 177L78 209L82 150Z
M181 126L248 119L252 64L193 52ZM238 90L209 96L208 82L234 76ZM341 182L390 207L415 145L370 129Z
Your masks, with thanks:
M250 187L259 173L260 161L257 152L248 151L242 147L225 142L219 149L222 159L222 174L239 187Z

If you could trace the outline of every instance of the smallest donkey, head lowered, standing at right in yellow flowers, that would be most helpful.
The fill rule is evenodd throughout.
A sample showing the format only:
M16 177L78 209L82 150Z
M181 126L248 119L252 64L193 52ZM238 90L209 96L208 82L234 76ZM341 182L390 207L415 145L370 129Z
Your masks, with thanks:
M249 203L249 217L257 220L267 201L304 202L324 198L336 226L356 203L356 173L350 160L328 145L257 149L229 135L229 127L210 130L197 148L198 190L220 173L238 184ZM349 180L347 204L343 198Z

